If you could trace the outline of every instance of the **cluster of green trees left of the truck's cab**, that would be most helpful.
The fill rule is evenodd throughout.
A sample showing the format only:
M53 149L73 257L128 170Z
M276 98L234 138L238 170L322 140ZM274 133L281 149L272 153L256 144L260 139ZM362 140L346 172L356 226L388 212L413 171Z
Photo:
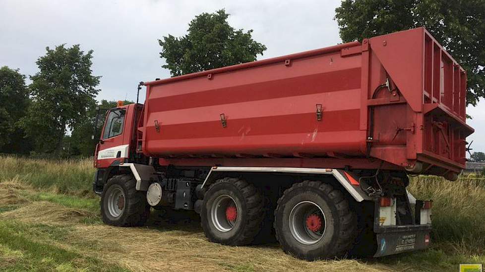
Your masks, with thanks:
M18 69L0 68L0 153L91 156L100 79L91 74L92 50L59 45L46 51L28 86ZM116 103L101 100L99 107Z

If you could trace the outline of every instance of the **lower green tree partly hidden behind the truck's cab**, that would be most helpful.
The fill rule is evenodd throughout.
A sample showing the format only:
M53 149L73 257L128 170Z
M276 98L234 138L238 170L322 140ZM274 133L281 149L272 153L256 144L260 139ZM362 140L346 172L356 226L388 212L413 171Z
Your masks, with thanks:
M116 108L118 101L115 100L101 100L99 103L99 116L98 124L96 124L96 115L98 111L95 107L89 108L86 114L84 122L78 124L71 132L71 135L66 138L68 140L68 148L70 155L80 155L80 156L92 156L94 154L94 147L101 136L101 130L104 125L106 110L111 108ZM124 100L123 105L133 104L133 101ZM94 127L96 129L96 135L94 140L91 136L94 134Z

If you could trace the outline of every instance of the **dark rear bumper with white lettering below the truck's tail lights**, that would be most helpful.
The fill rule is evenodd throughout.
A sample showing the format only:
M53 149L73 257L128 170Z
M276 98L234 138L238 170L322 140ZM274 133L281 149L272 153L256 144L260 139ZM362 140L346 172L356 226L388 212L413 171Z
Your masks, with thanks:
M431 225L378 227L374 257L422 250L429 247Z

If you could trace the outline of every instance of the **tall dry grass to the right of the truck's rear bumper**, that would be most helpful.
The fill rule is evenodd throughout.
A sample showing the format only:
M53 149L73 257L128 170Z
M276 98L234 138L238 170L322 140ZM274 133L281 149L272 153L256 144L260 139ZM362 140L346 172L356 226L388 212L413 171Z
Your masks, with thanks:
M413 178L408 190L432 199L434 241L469 254L485 254L485 179Z

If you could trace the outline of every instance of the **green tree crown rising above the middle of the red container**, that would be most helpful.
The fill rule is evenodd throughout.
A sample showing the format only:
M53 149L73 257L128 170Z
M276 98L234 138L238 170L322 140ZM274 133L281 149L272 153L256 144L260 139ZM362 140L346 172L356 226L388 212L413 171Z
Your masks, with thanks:
M176 38L169 34L158 40L161 58L172 76L200 72L256 60L266 46L255 42L252 30L235 30L227 22L224 9L202 13L188 24L188 34Z

